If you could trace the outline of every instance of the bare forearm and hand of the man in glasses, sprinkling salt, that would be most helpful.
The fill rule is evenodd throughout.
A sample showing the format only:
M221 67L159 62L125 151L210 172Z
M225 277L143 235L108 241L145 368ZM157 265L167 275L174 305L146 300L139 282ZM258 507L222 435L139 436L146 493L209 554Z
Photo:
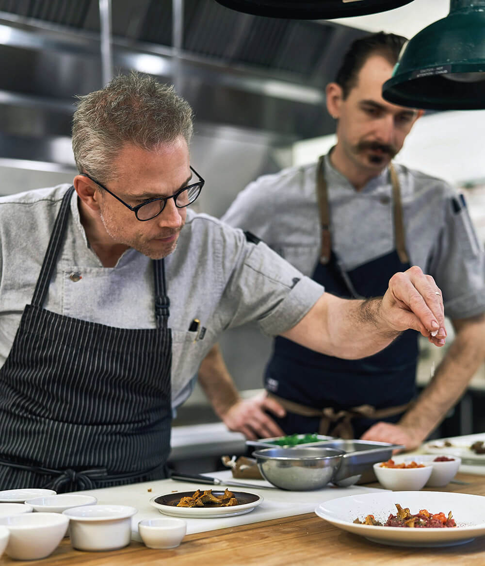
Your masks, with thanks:
M440 290L416 266L395 273L382 298L357 301L324 293L282 336L323 354L358 359L382 350L408 328L436 346L445 343Z

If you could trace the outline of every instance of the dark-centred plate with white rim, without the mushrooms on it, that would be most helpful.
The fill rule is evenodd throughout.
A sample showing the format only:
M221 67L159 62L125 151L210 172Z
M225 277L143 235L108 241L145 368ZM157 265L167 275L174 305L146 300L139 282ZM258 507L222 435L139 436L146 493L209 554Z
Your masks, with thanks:
M232 490L231 490L232 491ZM179 491L166 495L157 495L150 499L150 504L156 507L159 512L164 515L171 515L173 517L197 517L197 518L211 518L211 517L232 517L234 515L242 515L253 511L257 505L261 504L263 498L261 495L250 494L246 491L233 491L235 498L242 503L234 505L233 507L177 507L180 498L190 497L192 491ZM224 490L212 490L215 496L222 495Z

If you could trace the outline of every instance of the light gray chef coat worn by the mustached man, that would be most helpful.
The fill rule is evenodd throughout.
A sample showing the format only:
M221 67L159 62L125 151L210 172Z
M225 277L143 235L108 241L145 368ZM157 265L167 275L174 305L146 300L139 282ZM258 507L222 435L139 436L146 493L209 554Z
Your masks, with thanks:
M401 185L406 250L412 265L435 278L445 314L470 318L485 311L485 258L469 213L445 181L395 164ZM321 248L315 192L317 164L284 169L250 183L222 217L250 230L305 275ZM388 169L361 191L326 156L332 247L347 270L395 248Z

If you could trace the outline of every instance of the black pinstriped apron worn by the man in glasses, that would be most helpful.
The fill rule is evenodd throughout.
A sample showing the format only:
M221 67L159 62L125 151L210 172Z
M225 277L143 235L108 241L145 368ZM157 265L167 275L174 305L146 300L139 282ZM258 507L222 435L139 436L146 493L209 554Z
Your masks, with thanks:
M64 195L32 304L0 369L0 490L75 491L167 475L172 340L163 259L153 262L155 329L109 327L42 308L73 190Z

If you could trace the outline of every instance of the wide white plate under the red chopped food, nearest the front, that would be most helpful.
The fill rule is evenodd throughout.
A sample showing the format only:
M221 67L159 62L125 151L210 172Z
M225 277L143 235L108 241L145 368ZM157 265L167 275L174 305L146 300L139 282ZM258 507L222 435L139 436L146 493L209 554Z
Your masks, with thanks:
M396 503L409 507L412 514L420 509L430 513L451 511L456 527L442 529L408 529L359 525L353 521L374 515L386 522L389 514L396 514ZM339 529L361 535L369 541L393 546L452 546L470 542L485 535L485 498L482 495L448 493L444 491L387 491L363 495L349 495L324 501L315 513Z

